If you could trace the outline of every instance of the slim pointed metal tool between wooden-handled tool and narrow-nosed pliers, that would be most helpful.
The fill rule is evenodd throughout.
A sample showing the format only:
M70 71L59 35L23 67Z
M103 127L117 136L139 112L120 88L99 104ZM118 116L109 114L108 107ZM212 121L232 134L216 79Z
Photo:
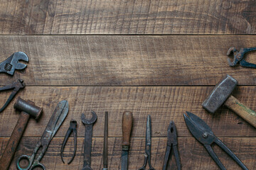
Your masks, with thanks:
M144 164L139 170L146 170L146 162L149 162L149 170L155 170L151 166L151 118L148 115L146 119L146 144L145 144L145 154L144 154Z

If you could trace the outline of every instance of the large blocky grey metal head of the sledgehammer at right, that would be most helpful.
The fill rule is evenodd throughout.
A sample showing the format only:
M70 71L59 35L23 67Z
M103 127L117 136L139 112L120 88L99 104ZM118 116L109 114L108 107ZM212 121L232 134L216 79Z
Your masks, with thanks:
M215 111L223 105L223 103L228 99L232 91L238 85L238 81L233 77L227 75L224 77L211 91L210 95L203 101L203 108L210 113L215 113Z

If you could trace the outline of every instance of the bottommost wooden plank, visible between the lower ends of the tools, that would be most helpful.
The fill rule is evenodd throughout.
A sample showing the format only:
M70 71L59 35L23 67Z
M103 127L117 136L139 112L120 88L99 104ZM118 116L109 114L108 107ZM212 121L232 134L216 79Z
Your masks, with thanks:
M4 146L7 143L8 138L0 138L0 153L3 152ZM31 155L36 142L40 140L39 137L23 137L18 150L14 156L14 160L10 169L16 169L15 161L21 156L21 154ZM255 137L225 137L220 138L225 145L227 145L247 166L248 169L256 168L256 140ZM78 138L77 154L72 164L63 164L60 159L60 146L63 142L63 137L54 137L48 147L48 150L41 160L46 168L53 169L82 169L83 159L83 137ZM109 169L120 169L120 155L121 155L121 137L110 137L109 141ZM166 137L154 137L152 138L151 147L151 164L155 169L161 169L164 163L164 152L166 149ZM129 152L129 169L139 169L144 162L144 145L145 139L142 137L132 137L131 147ZM102 146L103 138L94 137L92 139L92 169L102 169ZM240 169L233 159L228 157L223 150L219 147L213 147L215 153L223 162L227 169ZM206 149L193 137L178 137L178 151L181 157L182 169L196 169L204 170L218 169L218 166L213 162L213 159L208 155ZM65 147L64 157L65 161L70 159L73 152L72 138ZM176 169L176 163L174 156L169 162L168 169Z

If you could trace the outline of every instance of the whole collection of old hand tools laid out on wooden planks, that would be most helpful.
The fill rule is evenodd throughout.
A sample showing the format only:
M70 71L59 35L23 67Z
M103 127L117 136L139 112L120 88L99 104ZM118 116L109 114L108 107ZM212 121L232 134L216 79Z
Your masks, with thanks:
M252 48L241 48L238 52L235 47L230 47L228 50L227 55L234 55L233 62L228 59L228 64L230 67L235 67L236 64L240 64L242 67L251 67L256 68L256 64L248 63L245 61L245 53L256 50L256 47ZM4 62L0 63L0 72L4 72L6 74L14 75L15 69L25 69L26 64L22 64L18 62L19 60L23 60L28 62L28 56L24 52L14 52L11 57L4 60ZM250 108L245 106L244 104L240 103L238 99L231 95L232 91L237 86L238 81L233 77L226 75L220 82L214 87L213 91L209 94L205 101L203 101L203 108L210 113L215 113L218 111L220 106L227 106L235 113L240 115L244 120L246 120L250 125L256 128L256 113L252 111ZM12 84L6 85L0 88L0 91L12 89L11 95L7 99L4 106L0 108L0 113L4 111L4 109L9 105L11 100L16 96L20 89L23 89L26 84L23 82L22 79L18 79L14 81ZM35 118L36 120L40 118L41 114L43 113L43 108L39 108L35 105L32 101L25 101L22 98L18 97L16 102L14 103L14 108L16 110L21 111L21 114L18 118L18 122L16 127L14 128L9 142L6 145L4 150L4 154L0 159L0 170L7 170L11 164L11 160L14 157L14 153L18 146L18 142L21 140L24 130L26 129L26 125L28 124L28 120L30 116ZM46 169L46 166L40 163L43 155L46 153L48 145L50 141L53 139L55 133L60 128L60 125L65 120L66 116L68 115L68 101L60 101L53 114L46 126L46 130L43 132L41 140L38 141L36 144L35 149L33 150L33 154L31 156L21 155L20 157L16 158L16 167L20 170L28 170L33 169L35 167L41 167L41 169ZM97 114L92 111L92 118L87 120L85 118L85 114L81 115L82 123L85 125L85 142L84 142L84 155L83 155L83 167L82 170L90 170L91 168L91 152L92 152L92 128L94 123L97 120ZM218 137L216 137L210 127L201 119L198 118L197 115L186 111L186 114L183 114L185 123L187 125L188 130L191 132L193 137L201 142L201 144L206 148L210 157L213 158L214 162L218 165L220 169L225 169L225 166L220 162L218 156L213 152L211 145L215 143L218 145L223 151L225 151L234 161L242 168L247 169L245 164L243 164L240 159L230 150L228 147L225 146L223 142L221 142ZM124 111L122 115L122 155L120 159L120 169L127 170L128 163L129 163L129 146L130 146L130 135L132 132L132 122L133 122L133 115L131 112ZM75 158L75 152L77 149L77 121L70 120L70 128L66 132L65 138L63 140L63 144L60 149L60 158L63 163L63 150L65 145L68 141L68 137L70 134L73 133L73 140L74 140L74 149L73 149L73 156L68 161L70 164L73 159ZM108 169L107 164L107 157L108 157L108 113L105 112L105 130L104 130L104 146L103 146L103 168L102 170ZM38 149L41 148L41 153L36 158L36 154ZM171 121L167 130L167 144L166 144L166 152L164 155L164 164L162 166L163 170L167 169L169 159L171 159L171 151L174 153L174 157L176 160L177 169L181 169L181 161L178 154L178 140L177 140L177 131L176 125L174 121ZM22 159L27 159L28 165L23 167L20 162ZM155 170L151 164L151 117L148 115L146 119L146 139L145 139L145 153L144 153L144 164L142 165L139 170L145 170L147 163L149 165L150 170Z

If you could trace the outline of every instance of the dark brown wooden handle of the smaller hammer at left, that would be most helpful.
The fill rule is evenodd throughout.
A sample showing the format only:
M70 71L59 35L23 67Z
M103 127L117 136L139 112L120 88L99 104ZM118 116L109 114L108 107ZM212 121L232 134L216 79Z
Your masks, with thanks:
M11 133L11 137L4 149L4 154L0 159L0 169L7 170L11 164L11 159L14 157L18 142L21 140L23 132L28 124L28 119L30 115L26 112L21 112L21 115L18 118L18 122Z

